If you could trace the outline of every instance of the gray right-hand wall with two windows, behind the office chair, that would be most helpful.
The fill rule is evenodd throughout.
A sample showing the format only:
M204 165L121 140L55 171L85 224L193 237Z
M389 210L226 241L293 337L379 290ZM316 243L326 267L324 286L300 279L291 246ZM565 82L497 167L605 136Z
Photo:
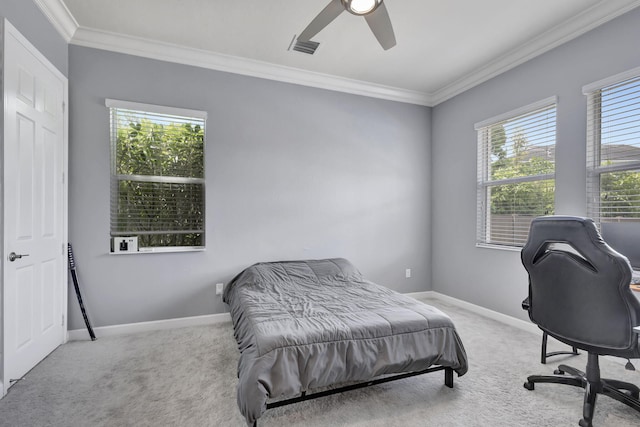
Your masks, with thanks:
M585 215L586 97L582 86L640 66L635 9L433 109L433 290L526 318L519 251L475 247L474 124L558 96L556 213Z

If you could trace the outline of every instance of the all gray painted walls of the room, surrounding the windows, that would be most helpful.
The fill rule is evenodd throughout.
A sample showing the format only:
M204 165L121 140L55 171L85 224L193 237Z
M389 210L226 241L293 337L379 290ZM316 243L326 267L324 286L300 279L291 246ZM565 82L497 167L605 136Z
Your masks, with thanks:
M0 0L0 15L70 78L70 240L96 326L223 312L214 284L251 263L330 256L525 318L519 252L475 247L473 124L557 95L556 212L583 215L581 87L640 66L637 9L432 111L67 48L32 1ZM108 254L107 97L209 113L205 252Z

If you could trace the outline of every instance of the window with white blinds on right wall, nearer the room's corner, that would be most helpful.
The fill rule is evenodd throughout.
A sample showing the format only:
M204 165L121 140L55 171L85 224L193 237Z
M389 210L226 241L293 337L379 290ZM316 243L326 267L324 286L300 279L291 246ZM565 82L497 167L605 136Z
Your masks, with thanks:
M522 247L531 220L554 213L556 98L475 125L478 246Z

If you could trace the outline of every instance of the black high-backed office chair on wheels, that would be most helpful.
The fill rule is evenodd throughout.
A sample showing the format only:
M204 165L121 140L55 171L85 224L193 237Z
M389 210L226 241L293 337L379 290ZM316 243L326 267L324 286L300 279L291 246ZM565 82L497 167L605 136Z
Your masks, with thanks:
M640 357L640 303L631 293L627 258L607 245L593 220L545 216L533 220L522 249L529 273L529 297L523 307L542 331L588 353L586 374L560 365L553 376L531 375L536 383L567 384L585 389L583 418L591 427L598 394L640 411L640 389L627 382L600 378L600 355Z

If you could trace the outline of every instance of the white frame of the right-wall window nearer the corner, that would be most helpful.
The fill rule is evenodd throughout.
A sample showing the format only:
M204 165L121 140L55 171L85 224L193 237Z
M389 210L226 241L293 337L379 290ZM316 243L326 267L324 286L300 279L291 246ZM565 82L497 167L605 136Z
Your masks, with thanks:
M519 184L525 182L537 182L553 180L555 186L555 156L554 156L554 170L553 173L537 174L537 175L525 175L513 178L505 178L492 180L490 176L490 163L491 163L491 144L489 143L490 137L486 135L490 128L508 122L512 119L522 118L528 114L534 114L538 111L542 111L546 108L553 107L555 114L554 123L554 143L553 147L557 145L557 112L558 112L558 97L551 96L541 99L539 101L527 104L523 107L516 108L506 113L491 117L489 119L478 122L474 125L474 129L477 132L477 181L476 181L476 247L479 248L492 248L502 249L510 251L520 251L524 246L524 242L521 245L496 243L490 241L491 236L491 200L490 200L490 188L504 186L509 184ZM553 201L555 207L555 195Z

